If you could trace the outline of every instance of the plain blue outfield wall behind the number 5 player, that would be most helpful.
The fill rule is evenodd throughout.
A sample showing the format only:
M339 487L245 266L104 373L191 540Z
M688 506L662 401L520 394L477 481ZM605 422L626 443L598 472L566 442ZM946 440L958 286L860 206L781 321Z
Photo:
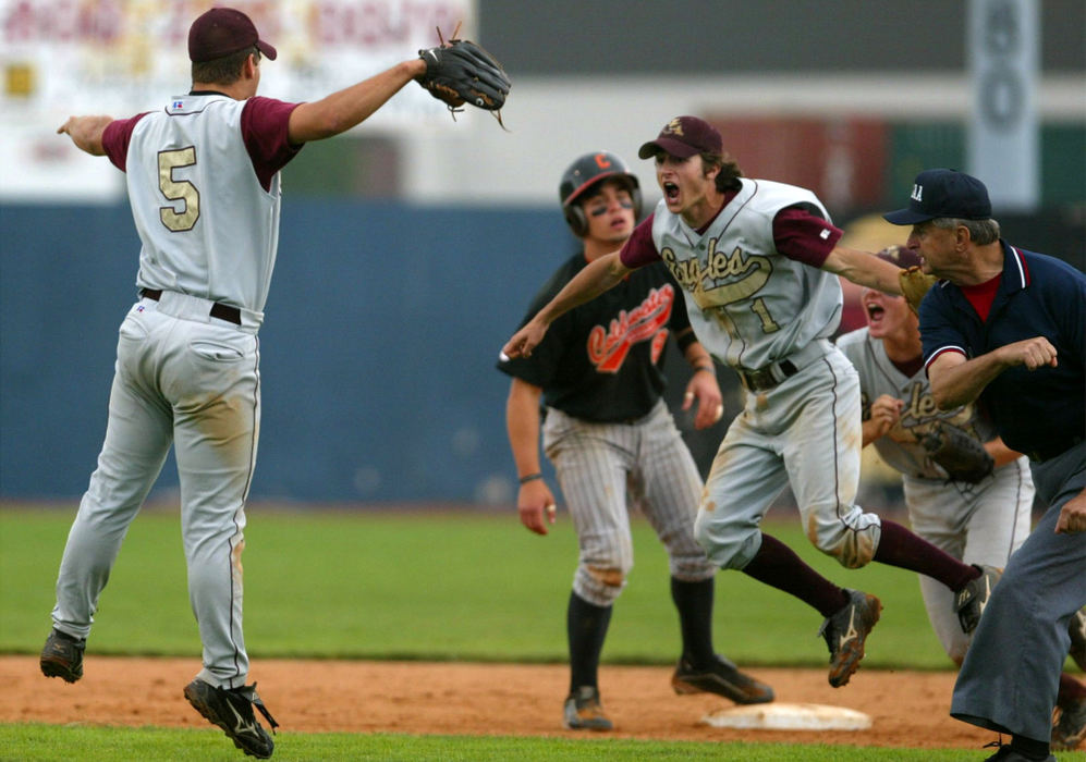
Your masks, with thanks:
M281 230L252 496L515 499L495 361L573 250L558 210L289 198ZM0 497L76 499L138 238L124 204L0 206Z

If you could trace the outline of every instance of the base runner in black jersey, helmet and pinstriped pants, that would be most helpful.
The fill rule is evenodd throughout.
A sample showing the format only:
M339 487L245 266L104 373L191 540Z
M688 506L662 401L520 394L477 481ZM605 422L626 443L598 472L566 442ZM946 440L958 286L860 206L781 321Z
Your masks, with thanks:
M525 322L589 262L626 241L642 206L637 177L609 151L570 164L559 198L583 246L542 286ZM662 265L642 268L556 320L532 357L498 364L512 377L505 417L520 472L521 523L546 534L547 523L554 521L554 496L539 469L542 400L544 447L581 545L566 609L570 692L563 724L570 729L612 727L597 678L612 604L634 563L632 507L640 508L668 551L683 644L674 690L711 691L743 704L773 699L769 686L741 673L712 647L717 567L694 539L701 479L661 398L669 336L694 369L684 406L696 401L695 427L715 423L723 407L712 358L694 337L676 292Z

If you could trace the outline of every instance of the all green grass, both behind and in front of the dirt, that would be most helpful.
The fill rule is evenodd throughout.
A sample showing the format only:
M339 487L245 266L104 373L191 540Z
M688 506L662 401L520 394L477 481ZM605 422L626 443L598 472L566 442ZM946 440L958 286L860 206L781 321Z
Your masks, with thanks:
M0 652L36 654L75 506L0 509ZM564 662L564 612L576 561L568 516L547 538L515 514L248 512L246 640L255 659ZM797 521L767 526L830 579L876 592L886 606L865 667L945 669L915 575L847 570L814 551ZM635 520L636 566L612 619L605 663L670 664L678 652L667 558ZM820 617L744 575L717 577L719 651L747 665L817 666ZM314 626L319 623L319 626ZM95 653L196 657L175 511L133 523L100 601ZM905 750L623 739L284 734L280 760L980 760L959 750ZM237 760L217 729L0 725L0 760ZM1061 754L1086 762L1086 754Z

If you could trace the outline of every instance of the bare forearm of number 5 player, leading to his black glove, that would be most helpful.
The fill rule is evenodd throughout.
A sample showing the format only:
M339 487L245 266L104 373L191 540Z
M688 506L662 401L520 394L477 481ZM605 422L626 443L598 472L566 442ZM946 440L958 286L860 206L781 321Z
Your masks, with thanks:
M302 103L291 112L290 142L297 146L346 132L366 121L404 85L425 73L426 63L422 59L404 61L326 98Z

